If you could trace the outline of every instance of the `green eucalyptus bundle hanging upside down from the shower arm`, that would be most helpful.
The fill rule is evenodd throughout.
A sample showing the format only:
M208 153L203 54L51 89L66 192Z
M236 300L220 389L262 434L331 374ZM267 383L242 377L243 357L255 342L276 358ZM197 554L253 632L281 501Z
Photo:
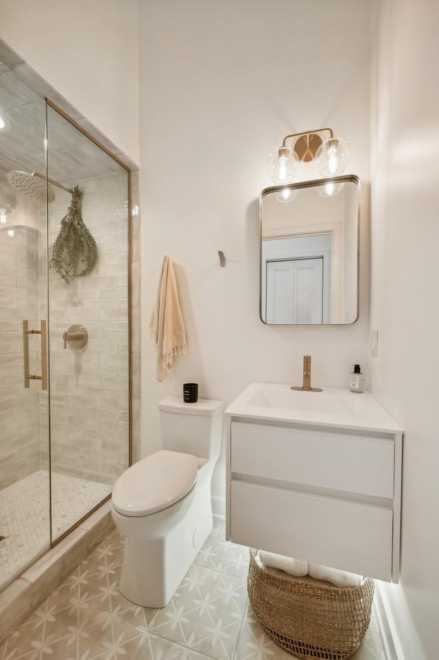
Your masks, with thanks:
M81 199L82 192L76 185L49 262L67 284L71 284L75 277L91 273L97 262L95 239L82 220Z

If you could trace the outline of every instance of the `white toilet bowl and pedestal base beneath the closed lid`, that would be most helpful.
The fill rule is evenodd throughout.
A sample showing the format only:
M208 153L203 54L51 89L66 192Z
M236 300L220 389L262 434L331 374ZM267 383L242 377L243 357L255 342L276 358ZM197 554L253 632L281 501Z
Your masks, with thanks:
M212 531L208 502L203 510L194 502L185 519L166 534L127 536L119 587L125 598L142 607L168 604Z

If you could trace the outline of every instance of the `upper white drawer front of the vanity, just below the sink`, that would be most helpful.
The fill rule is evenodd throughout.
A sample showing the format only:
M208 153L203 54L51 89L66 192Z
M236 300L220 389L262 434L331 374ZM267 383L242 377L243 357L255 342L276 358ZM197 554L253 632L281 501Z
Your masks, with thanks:
M393 497L394 442L232 422L232 473Z

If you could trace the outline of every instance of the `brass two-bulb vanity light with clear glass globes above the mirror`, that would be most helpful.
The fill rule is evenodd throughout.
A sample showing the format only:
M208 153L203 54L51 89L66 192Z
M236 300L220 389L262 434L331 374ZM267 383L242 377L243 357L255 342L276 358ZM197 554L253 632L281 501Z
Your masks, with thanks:
M331 128L318 128L284 137L282 146L268 157L267 171L273 183L290 183L300 162L316 161L322 177L337 177L350 157L344 138L334 137Z

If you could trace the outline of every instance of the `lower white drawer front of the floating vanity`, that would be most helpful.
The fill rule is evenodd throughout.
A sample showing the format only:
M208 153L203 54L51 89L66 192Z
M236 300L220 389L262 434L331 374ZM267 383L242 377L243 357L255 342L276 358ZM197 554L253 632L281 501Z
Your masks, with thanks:
M230 540L392 579L392 510L232 481Z

